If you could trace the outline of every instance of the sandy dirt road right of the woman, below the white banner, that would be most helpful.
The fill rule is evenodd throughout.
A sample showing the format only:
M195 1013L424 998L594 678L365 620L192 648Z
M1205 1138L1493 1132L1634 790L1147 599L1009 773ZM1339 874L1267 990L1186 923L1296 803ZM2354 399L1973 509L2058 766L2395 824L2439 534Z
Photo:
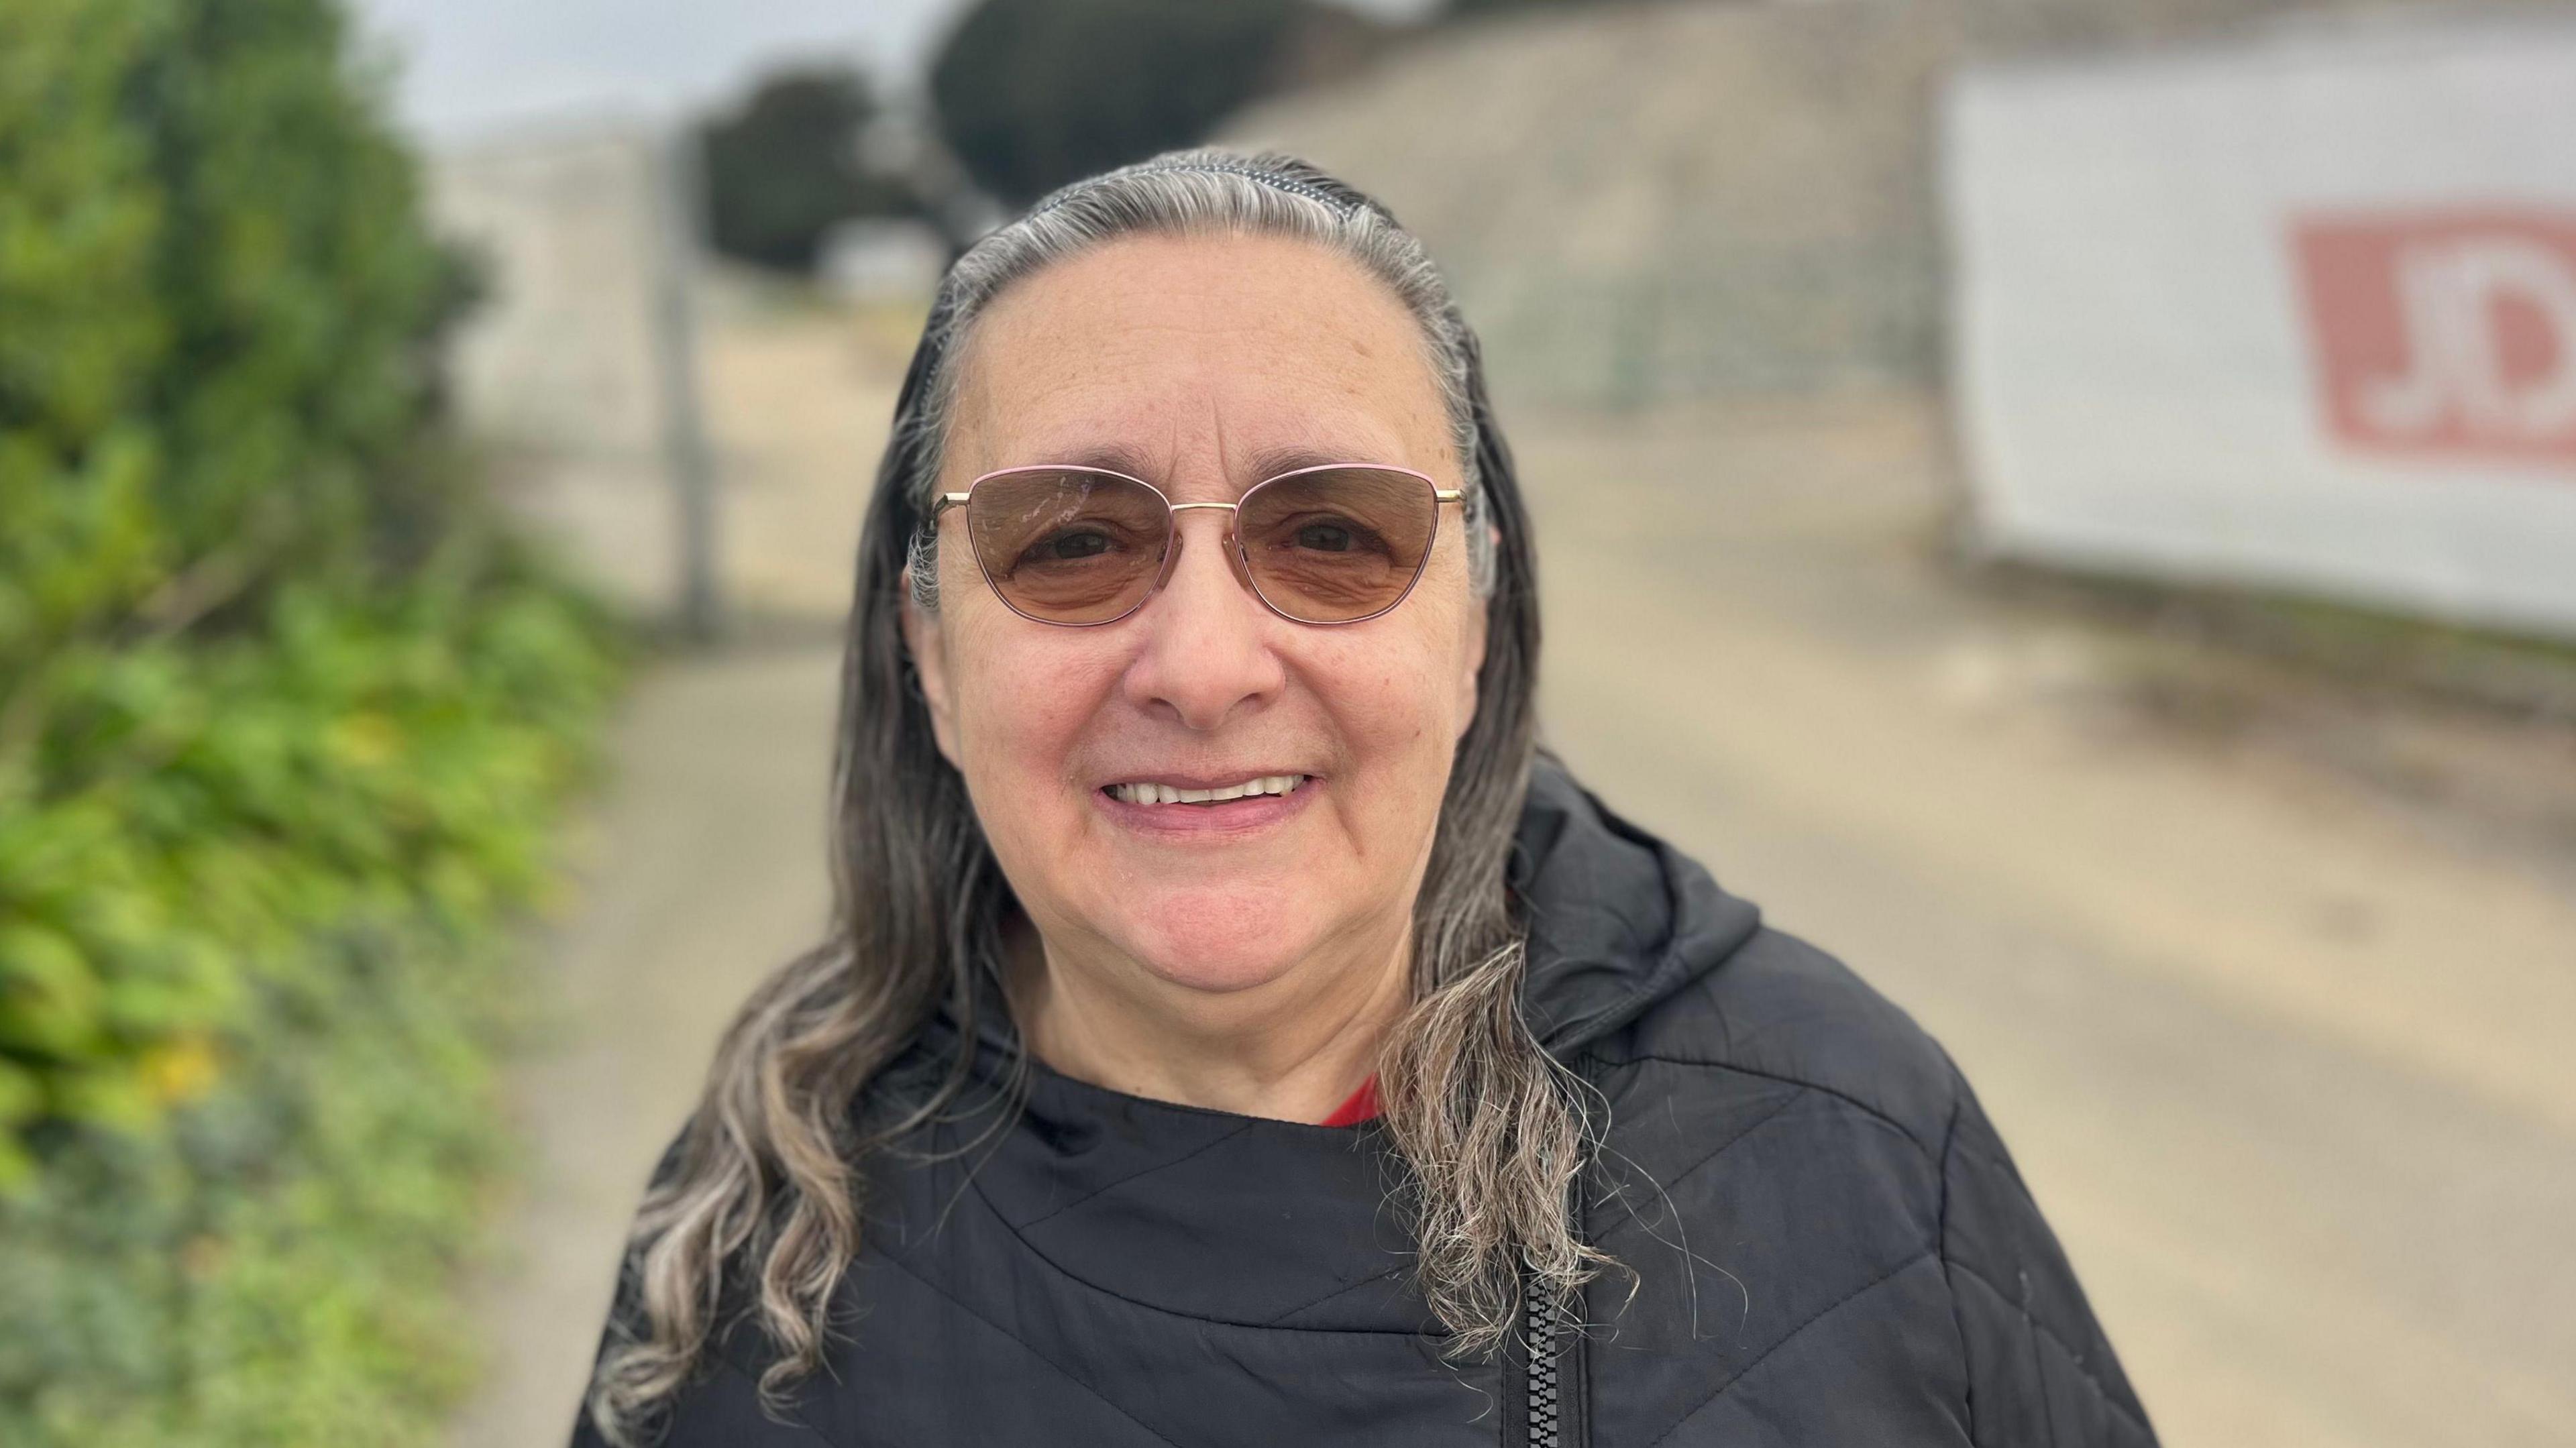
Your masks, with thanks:
M2566 855L2141 724L1901 405L1522 433L1551 739L1950 1046L2169 1443L2576 1443Z

